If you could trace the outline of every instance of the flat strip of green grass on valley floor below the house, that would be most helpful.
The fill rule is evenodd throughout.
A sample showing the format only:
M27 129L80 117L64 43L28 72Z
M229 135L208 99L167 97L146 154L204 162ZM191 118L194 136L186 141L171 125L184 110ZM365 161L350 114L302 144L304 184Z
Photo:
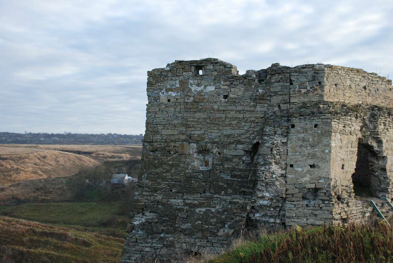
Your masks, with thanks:
M125 237L128 215L121 215L120 202L22 204L0 207L0 215L78 230Z

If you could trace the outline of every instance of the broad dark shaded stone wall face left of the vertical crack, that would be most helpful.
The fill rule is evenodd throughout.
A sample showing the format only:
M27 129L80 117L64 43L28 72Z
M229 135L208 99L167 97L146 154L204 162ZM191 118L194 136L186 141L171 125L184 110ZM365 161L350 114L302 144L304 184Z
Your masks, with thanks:
M289 68L240 76L206 59L148 75L144 174L123 262L219 252L248 225L280 226Z

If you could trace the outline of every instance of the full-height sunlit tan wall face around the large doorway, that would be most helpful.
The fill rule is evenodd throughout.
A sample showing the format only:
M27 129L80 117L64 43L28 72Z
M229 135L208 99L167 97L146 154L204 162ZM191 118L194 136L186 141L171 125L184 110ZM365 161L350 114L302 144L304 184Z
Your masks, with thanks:
M389 163L393 157L393 86L391 80L374 73L331 65L325 68L325 86L324 99L334 102L330 113L333 223L362 222L372 209L367 200L354 197L351 176L358 158L358 143L375 154L367 157L375 196L392 197L393 173Z

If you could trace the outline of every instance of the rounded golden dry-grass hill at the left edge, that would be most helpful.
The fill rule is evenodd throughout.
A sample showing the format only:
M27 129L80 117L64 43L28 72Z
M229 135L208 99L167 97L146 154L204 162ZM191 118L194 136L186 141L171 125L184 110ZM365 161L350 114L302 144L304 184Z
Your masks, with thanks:
M0 185L39 178L66 177L77 173L82 167L95 167L98 164L92 158L73 153L1 147Z

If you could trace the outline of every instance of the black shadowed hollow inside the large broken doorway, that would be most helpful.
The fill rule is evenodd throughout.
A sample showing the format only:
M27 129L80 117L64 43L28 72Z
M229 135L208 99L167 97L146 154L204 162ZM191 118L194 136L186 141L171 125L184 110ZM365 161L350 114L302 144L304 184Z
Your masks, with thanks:
M370 162L375 156L376 153L370 145L358 142L356 167L352 174L353 191L356 196L373 197L375 195L371 182L373 171L370 167ZM345 168L344 165L343 167Z

